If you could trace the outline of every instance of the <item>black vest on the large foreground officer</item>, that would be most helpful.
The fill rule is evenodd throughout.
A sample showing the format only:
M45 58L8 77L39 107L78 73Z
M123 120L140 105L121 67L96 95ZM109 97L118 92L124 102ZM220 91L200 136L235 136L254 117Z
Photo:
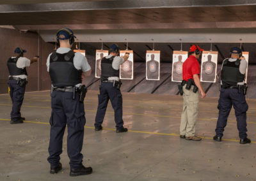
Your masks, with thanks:
M72 50L66 54L52 53L49 74L54 87L74 87L82 82L82 70L75 68L74 56Z

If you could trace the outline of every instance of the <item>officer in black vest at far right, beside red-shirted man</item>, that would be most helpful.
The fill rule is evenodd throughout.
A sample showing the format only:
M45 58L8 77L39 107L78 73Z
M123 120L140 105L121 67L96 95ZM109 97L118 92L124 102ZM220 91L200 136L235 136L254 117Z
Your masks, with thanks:
M221 69L221 89L218 104L219 117L215 129L216 136L213 137L213 140L221 141L224 128L227 125L228 115L233 106L237 119L240 143L251 143L251 140L247 138L246 134L246 112L248 105L245 100L247 86L244 82L244 76L247 62L242 57L240 48L231 48L230 54L231 58L223 61Z

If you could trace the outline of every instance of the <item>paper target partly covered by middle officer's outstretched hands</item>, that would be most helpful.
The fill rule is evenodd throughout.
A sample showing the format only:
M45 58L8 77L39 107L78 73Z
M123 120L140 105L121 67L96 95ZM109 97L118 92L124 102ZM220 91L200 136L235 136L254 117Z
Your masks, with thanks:
M129 53L129 59L120 65L120 79L132 80L133 79L133 51L121 50L120 56L124 56L125 53Z

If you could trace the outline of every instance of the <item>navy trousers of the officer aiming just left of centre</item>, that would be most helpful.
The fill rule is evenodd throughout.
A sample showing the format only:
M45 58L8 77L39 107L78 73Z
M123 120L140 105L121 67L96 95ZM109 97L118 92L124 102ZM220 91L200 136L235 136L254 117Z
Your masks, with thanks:
M95 118L95 127L100 127L107 110L108 101L110 99L111 105L115 111L116 129L122 129L123 121L123 99L119 89L113 87L113 82L102 82L100 85L99 105Z

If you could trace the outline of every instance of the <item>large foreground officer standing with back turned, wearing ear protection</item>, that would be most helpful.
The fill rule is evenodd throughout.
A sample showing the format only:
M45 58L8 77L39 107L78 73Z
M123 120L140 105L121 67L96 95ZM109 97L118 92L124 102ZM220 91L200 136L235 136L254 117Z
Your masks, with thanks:
M50 118L51 134L49 142L48 161L51 164L50 173L58 173L62 169L60 154L65 127L68 127L67 152L70 159L70 176L88 175L91 167L84 167L83 147L84 103L81 96L82 73L90 75L90 65L86 57L73 52L70 48L74 43L74 33L71 29L60 29L56 34L60 48L49 55L47 69L51 76L52 93ZM85 75L86 76L86 75Z

